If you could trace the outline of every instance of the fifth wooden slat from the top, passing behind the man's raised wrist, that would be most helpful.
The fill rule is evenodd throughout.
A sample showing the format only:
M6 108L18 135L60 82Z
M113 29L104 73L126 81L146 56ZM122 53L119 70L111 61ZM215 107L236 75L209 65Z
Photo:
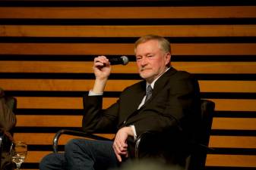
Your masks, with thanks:
M105 91L122 91L141 80L109 80ZM90 91L94 80L80 79L0 79L8 91ZM256 81L199 81L201 92L256 92Z

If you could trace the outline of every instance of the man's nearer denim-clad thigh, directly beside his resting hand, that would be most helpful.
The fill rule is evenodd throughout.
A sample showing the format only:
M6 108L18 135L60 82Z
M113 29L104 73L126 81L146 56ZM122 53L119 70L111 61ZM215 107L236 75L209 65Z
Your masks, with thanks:
M112 149L112 141L74 139L65 145L68 170L94 170L119 165Z

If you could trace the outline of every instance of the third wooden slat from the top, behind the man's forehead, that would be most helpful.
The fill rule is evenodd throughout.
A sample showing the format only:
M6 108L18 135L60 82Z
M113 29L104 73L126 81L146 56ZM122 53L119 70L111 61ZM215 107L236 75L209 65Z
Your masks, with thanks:
M174 55L256 54L256 43L173 43L171 48ZM133 55L134 45L125 43L0 43L0 54Z

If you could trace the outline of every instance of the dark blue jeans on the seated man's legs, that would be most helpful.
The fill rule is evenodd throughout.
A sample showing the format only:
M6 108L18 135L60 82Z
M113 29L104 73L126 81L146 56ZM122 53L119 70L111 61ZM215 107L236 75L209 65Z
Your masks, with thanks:
M115 168L119 162L112 141L73 139L65 145L65 153L51 153L40 162L40 170L99 170Z

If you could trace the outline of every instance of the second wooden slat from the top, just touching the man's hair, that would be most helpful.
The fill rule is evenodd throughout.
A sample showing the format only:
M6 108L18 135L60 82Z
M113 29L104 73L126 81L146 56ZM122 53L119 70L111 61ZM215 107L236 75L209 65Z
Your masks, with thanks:
M17 37L140 37L147 34L165 37L246 37L256 36L256 25L0 26L0 36Z

